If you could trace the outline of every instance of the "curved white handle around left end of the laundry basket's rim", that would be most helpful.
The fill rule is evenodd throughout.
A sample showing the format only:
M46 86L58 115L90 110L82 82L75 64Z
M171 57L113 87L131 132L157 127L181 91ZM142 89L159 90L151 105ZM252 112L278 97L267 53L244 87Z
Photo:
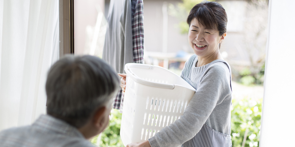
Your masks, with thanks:
M152 87L158 87L158 88L165 88L165 89L173 89L175 85L173 84L165 84L165 83L156 83L156 82L151 82L151 81L147 81L144 80L142 78L139 78L138 76L136 76L131 70L130 68L142 68L142 69L150 69L153 68L152 65L146 65L146 64L141 64L141 65L137 65L137 64L126 64L125 65L125 72L128 76L130 76L130 78L132 78L132 80L134 80L137 83L143 84L143 85L147 85L147 86L152 86Z

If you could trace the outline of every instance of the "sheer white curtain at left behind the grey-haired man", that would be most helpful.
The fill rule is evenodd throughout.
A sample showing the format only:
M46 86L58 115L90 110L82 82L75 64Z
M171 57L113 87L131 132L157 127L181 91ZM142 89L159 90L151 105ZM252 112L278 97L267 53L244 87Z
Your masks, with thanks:
M47 71L59 58L58 0L0 0L0 131L46 113Z

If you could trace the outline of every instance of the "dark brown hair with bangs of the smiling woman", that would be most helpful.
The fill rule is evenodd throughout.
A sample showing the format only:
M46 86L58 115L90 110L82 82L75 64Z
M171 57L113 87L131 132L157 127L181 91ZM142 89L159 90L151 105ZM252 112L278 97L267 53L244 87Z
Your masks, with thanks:
M202 1L196 4L186 19L187 24L196 18L207 29L219 31L219 36L226 32L227 14L221 4L212 1Z

